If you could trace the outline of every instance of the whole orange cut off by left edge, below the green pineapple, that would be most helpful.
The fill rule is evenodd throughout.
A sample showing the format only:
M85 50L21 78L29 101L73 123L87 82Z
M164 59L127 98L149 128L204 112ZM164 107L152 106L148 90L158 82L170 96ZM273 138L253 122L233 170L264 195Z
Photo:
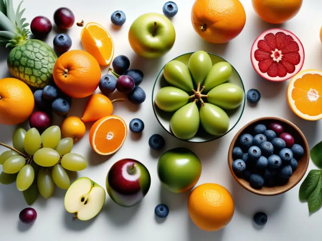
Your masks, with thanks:
M35 101L28 85L19 79L0 79L0 124L16 125L33 112Z

